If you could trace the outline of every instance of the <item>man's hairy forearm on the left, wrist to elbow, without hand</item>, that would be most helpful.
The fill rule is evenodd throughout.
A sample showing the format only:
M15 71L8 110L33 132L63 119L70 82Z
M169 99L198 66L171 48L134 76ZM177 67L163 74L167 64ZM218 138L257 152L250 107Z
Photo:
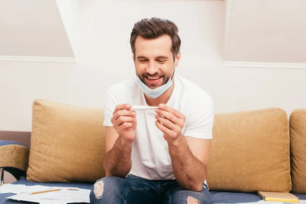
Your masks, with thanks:
M118 137L113 148L104 156L106 176L125 177L131 170L132 143Z

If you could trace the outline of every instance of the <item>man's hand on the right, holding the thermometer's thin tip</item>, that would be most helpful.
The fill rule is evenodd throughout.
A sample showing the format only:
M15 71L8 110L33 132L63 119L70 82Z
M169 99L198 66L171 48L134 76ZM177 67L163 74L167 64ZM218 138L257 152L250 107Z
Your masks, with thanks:
M164 133L164 139L169 144L177 144L177 141L183 137L185 115L166 104L160 104L155 111L157 113L155 124Z

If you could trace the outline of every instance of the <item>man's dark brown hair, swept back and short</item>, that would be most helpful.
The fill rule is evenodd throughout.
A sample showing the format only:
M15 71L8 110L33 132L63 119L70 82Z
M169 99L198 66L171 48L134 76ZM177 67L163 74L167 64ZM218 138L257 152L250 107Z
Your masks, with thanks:
M146 39L156 39L163 35L168 35L172 40L171 52L173 54L173 60L177 54L180 52L181 39L178 35L179 29L170 20L152 17L151 19L143 18L134 24L131 33L131 48L135 56L135 41L138 36Z

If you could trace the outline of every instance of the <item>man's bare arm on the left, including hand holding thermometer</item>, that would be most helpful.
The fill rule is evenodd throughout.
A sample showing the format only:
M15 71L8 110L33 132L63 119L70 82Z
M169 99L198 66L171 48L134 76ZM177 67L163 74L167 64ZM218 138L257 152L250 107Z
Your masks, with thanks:
M112 126L106 127L106 176L125 177L132 168L131 152L135 139L136 112L132 105L118 105L111 118Z

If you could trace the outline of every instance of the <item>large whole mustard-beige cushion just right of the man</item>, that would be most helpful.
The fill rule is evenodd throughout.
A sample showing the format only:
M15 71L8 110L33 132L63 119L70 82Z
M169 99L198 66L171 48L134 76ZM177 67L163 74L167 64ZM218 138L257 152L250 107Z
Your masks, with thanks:
M207 175L210 190L289 192L289 159L285 111L216 114Z

